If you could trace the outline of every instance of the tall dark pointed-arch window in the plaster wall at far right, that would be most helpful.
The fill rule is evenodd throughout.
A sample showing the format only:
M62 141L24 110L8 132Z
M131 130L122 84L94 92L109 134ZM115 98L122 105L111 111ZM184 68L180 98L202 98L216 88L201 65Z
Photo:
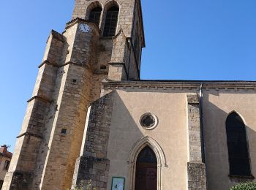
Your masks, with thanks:
M238 113L227 116L226 132L230 176L251 176L246 126Z

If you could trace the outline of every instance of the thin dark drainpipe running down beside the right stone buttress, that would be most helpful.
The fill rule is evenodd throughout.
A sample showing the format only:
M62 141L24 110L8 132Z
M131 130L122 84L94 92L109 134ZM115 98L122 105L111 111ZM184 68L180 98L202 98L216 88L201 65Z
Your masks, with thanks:
M206 163L206 151L205 151L205 140L204 140L204 133L203 133L203 83L200 83L200 135L201 135L201 151L202 151L202 161Z

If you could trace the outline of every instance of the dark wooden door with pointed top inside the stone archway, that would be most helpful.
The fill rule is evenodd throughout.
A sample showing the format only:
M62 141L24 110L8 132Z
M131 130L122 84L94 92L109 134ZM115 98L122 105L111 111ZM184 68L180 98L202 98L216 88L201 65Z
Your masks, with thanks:
M146 146L136 161L135 190L157 190L157 157Z

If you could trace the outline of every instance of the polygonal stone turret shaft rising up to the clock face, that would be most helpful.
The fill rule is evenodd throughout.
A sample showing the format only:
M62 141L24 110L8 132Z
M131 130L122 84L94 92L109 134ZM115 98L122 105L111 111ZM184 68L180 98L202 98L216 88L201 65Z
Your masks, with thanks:
M83 20L68 23L64 33L69 44L68 54L66 64L59 69L60 75L56 80L56 115L48 122L49 128L46 129L50 130L42 147L50 147L50 150L45 150L45 161L39 161L43 164L39 181L41 189L48 189L49 186L54 186L55 189L69 189L75 160L80 152L86 111L91 102L91 89L94 88L92 70L99 34L94 26L91 26L91 33L79 32L80 22Z

